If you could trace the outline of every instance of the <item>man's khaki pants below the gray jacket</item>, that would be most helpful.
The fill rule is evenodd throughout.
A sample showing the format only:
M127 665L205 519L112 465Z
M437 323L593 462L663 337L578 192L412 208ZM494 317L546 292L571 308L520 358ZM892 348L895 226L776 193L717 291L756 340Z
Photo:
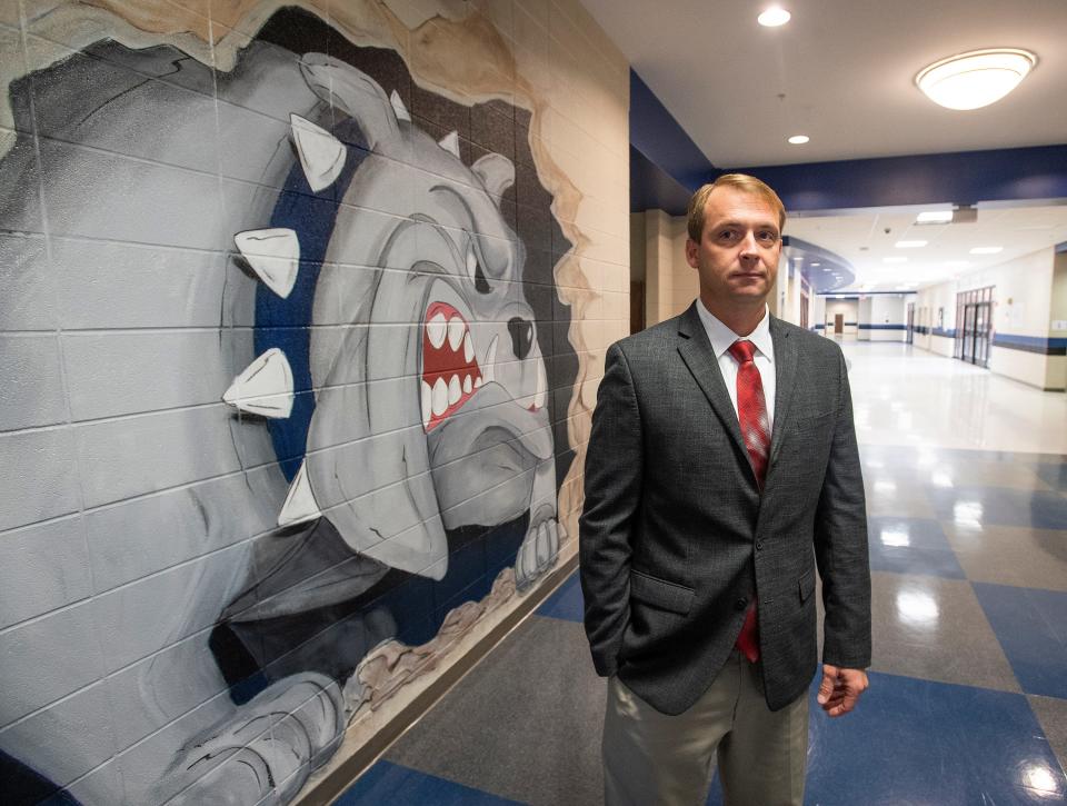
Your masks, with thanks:
M704 804L716 756L727 806L800 806L807 750L807 694L771 713L759 667L736 650L678 716L659 713L616 677L608 681L608 806Z

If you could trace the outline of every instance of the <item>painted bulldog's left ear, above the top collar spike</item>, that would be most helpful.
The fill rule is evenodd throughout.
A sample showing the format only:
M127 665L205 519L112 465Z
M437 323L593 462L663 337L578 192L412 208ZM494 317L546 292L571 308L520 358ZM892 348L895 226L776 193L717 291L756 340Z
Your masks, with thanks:
M300 71L319 98L359 123L370 148L399 136L396 107L381 86L362 70L323 53L305 53Z

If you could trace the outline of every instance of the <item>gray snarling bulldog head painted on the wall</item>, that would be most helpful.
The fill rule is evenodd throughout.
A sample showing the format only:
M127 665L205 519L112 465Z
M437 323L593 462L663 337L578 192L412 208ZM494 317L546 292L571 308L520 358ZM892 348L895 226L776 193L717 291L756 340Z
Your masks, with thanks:
M316 287L316 407L279 523L321 515L352 549L439 579L445 529L535 504L555 516L535 485L555 482L545 362L523 248L500 213L515 169L495 153L466 166L455 132L429 137L349 64L309 54L302 70L361 131L345 143L295 121L312 189L365 153Z

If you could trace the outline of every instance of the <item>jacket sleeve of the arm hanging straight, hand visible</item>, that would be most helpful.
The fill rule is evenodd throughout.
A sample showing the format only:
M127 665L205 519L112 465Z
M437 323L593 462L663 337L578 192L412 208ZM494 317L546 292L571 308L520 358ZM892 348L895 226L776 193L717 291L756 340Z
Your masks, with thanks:
M834 445L815 520L815 556L822 578L822 663L870 666L870 561L867 506L852 422L845 357L838 354L840 398Z

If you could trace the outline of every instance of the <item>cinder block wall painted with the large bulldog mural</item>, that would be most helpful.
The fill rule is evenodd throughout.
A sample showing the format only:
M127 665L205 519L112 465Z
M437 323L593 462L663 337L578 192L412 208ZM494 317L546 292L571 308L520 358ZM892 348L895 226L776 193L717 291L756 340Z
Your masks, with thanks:
M576 0L0 53L4 803L295 800L576 550L628 66Z

